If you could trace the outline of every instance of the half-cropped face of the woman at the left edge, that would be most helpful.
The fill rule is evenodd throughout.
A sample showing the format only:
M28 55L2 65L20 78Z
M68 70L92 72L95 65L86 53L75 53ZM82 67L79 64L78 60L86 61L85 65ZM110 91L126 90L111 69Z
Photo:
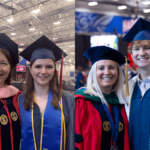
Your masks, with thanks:
M10 64L6 56L0 52L0 86L2 87L10 72Z

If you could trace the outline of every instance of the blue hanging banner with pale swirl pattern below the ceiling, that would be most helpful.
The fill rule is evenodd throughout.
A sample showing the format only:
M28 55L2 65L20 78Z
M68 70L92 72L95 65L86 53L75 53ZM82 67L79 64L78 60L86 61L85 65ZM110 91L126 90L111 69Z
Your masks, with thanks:
M75 12L75 31L125 34L137 19L89 12Z

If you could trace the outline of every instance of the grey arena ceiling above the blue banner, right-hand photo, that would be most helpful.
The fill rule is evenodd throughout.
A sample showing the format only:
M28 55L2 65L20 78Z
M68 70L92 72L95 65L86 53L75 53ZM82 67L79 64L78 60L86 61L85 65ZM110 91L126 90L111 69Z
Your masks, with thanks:
M88 2L98 2L96 6L89 6ZM125 5L127 9L119 10L118 6ZM150 0L76 0L76 9L84 8L90 11L103 13L112 12L113 14L125 15L130 17L143 16L150 18L149 13L144 13L145 9L150 9Z

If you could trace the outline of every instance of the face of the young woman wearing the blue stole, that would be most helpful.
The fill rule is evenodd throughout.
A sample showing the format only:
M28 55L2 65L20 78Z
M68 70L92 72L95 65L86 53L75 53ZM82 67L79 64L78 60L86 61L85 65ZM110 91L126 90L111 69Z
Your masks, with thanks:
M52 59L37 59L29 69L35 84L49 86L54 75L55 65Z

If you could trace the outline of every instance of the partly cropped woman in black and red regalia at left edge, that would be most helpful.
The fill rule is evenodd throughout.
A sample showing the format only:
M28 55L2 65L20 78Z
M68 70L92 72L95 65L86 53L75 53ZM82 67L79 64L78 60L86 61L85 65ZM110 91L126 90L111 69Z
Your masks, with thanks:
M0 150L19 150L21 120L17 98L21 91L10 85L11 69L18 62L18 45L0 33Z

